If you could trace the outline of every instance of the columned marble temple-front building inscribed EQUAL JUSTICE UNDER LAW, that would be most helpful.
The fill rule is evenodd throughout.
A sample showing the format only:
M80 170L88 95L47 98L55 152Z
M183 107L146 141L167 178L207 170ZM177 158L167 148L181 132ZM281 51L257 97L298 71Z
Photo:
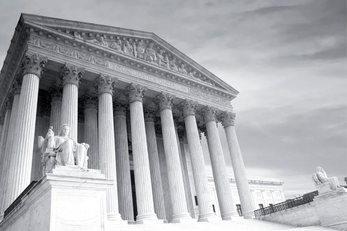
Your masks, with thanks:
M42 177L38 137L50 126L59 134L62 124L70 125L72 139L90 145L88 168L116 180L106 193L107 220L218 219L202 135L216 213L237 218L217 122L225 130L242 215L252 217L230 103L239 92L157 35L22 14L0 83L0 220Z

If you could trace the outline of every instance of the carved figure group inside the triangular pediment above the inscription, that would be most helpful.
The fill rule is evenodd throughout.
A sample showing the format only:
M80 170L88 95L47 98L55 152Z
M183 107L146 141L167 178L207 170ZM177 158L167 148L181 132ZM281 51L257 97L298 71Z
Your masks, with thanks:
M82 38L81 35L78 33L76 33L75 36ZM111 45L108 45L107 42L104 41L104 38L102 36L100 36L99 40L93 39L88 41L104 47L114 49L118 52L127 54L129 56L137 57L138 59L154 63L158 66L165 67L167 69L179 72L181 74L185 74L190 77L196 78L195 70L187 72L184 64L179 64L177 66L176 57L173 57L172 60L169 60L168 54L164 54L163 50L160 49L156 51L153 49L153 43L150 43L148 47L145 47L141 41L138 41L137 44L135 42L133 44L130 44L127 40L123 43L122 41L117 40L117 42L113 42ZM209 80L206 80L206 82L210 83Z

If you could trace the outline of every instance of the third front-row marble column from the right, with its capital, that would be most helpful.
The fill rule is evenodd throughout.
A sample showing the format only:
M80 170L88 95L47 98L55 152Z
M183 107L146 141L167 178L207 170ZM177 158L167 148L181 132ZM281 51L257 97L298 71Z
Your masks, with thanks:
M199 206L198 221L215 220L208 182L206 177L203 149L200 144L199 132L197 130L195 113L197 102L186 100L181 104L181 112L185 118L187 140L190 150L190 158L193 170L194 185L197 203Z

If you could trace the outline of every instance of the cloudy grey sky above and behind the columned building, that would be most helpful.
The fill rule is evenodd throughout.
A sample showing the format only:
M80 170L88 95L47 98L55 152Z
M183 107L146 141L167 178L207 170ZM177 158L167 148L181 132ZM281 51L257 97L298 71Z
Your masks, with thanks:
M0 0L0 68L22 12L154 32L240 91L231 103L248 176L281 180L286 198L316 190L318 165L345 185L346 1Z

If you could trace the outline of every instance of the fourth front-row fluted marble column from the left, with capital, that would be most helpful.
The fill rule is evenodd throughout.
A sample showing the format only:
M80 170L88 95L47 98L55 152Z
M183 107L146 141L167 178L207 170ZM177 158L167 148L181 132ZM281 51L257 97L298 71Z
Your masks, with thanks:
M130 84L126 87L126 98L130 104L130 123L136 187L136 223L158 222L154 212L150 163L143 118L143 95L147 87Z

